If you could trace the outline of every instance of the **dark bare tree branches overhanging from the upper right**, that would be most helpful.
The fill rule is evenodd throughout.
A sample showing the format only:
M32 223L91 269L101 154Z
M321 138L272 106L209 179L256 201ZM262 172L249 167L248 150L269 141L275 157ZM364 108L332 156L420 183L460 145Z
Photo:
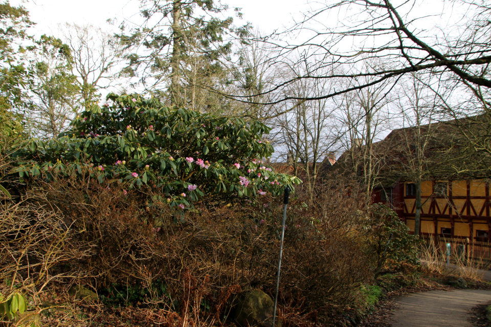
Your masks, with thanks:
M304 74L277 81L261 94L278 92L299 79L345 80L344 87L330 89L320 95L300 97L283 93L283 97L266 103L328 99L387 81L396 84L401 76L413 72L432 74L434 81L454 80L475 90L488 89L491 87L488 71L491 26L486 22L491 6L477 0L454 0L444 4L455 6L456 11L461 8L465 11L462 19L451 17L451 21L457 20L447 29L456 30L453 34L445 34L445 31L434 33L427 26L418 26L419 19L409 18L415 10L415 1L394 6L391 0L344 0L308 12L291 29L273 35L268 41L276 45L272 64L283 63L290 53L304 53L309 59L304 61ZM338 19L343 16L344 19ZM432 18L437 20L438 16L439 13L435 13ZM300 44L283 41L294 39L294 36L305 41ZM373 59L385 64L363 64ZM326 66L353 69L344 72L333 70L326 74L320 69ZM366 78L364 83L353 83L361 77ZM246 101L242 95L230 97ZM483 100L489 104L489 98Z

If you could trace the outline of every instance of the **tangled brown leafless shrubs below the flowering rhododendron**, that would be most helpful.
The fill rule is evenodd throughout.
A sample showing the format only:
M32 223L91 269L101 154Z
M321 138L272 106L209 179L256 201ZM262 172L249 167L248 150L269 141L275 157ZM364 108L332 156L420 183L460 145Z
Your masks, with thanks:
M364 194L339 182L320 191L315 205L298 190L288 206L284 326L342 320L363 306L360 289L373 276ZM281 199L209 201L183 213L157 190L75 177L19 193L0 212L8 244L0 251L1 291L22 290L47 325L221 326L233 323L231 303L241 291L274 294ZM73 284L101 301L73 302L66 294ZM47 306L46 294L64 309Z

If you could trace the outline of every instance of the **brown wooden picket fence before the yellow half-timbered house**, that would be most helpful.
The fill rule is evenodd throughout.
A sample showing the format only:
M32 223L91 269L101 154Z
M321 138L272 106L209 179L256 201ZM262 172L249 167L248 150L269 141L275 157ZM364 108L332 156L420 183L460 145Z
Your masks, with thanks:
M441 236L422 235L423 250L436 251L439 256L447 255L447 244L450 243L450 255L453 262L473 262L481 266L491 265L491 243L472 239L445 238Z

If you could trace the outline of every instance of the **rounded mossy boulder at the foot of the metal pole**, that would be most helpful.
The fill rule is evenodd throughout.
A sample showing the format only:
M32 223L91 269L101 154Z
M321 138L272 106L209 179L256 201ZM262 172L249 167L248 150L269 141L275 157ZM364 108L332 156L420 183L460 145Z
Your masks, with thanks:
M242 327L273 327L274 305L271 297L263 291L249 291L234 305L235 321Z

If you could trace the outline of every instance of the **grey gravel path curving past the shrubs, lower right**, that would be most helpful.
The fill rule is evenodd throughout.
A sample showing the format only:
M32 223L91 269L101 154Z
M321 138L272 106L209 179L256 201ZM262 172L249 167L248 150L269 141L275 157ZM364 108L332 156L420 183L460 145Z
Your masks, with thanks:
M429 291L395 299L392 327L471 327L468 311L491 301L491 291Z

